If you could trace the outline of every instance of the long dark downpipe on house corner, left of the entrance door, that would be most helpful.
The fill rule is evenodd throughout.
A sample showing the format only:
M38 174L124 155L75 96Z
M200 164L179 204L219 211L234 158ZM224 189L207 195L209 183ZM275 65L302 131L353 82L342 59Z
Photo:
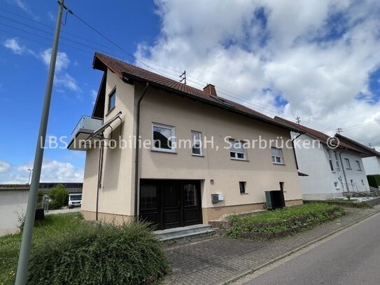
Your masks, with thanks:
M146 90L148 90L149 83L146 81L145 88L141 93L140 99L137 102L137 111L136 111L136 137L134 139L134 219L137 220L139 218L139 137L140 137L140 110L141 110L141 101L146 94Z

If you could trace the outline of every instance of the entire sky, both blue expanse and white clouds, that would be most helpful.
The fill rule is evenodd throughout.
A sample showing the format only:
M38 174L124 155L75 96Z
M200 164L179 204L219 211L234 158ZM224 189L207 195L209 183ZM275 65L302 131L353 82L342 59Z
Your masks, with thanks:
M55 0L0 0L0 183L26 183L50 57ZM105 5L106 3L106 5ZM76 15L161 74L380 148L377 0L66 0ZM66 14L64 14L66 18ZM47 27L49 26L49 27ZM70 136L101 80L92 55L141 65L73 15L62 26L48 125ZM142 66L143 68L146 68ZM85 153L47 150L42 181L81 181Z

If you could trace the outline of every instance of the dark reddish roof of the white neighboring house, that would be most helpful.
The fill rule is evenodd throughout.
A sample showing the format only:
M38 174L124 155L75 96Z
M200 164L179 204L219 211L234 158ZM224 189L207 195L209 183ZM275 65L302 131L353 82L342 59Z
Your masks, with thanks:
M317 130L311 129L310 127L305 127L304 125L293 123L290 120L286 120L284 118L274 117L274 120L281 122L283 124L287 124L289 126L295 127L298 130L300 130L300 132L304 132L312 139L318 139L319 141L321 141L322 144L327 144L327 141L330 138L330 136L328 136L327 134L324 134L323 132L319 132ZM350 149L351 151L356 151L358 153L361 153L362 155L367 154L367 152L363 151L362 148L358 148L357 146L353 144L347 144L346 141L342 141L340 138L338 139L339 139L339 148L347 148L347 149Z

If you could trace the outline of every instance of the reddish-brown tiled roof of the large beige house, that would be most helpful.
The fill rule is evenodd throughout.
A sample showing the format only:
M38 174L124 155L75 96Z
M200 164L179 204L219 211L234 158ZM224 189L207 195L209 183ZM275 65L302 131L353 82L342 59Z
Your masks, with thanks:
M94 62L92 65L94 69L99 69L103 71L106 71L106 68L108 67L108 69L111 69L111 71L115 72L115 74L118 74L120 78L127 77L141 82L148 81L150 85L154 85L158 88L166 89L180 95L185 95L192 99L197 99L207 104L212 104L213 106L218 106L220 108L233 111L234 113L240 113L244 116L261 120L265 123L283 127L288 130L294 130L293 127L289 125L283 125L281 122L276 121L268 116L265 116L264 114L259 113L258 111L249 109L244 105L237 104L236 102L232 102L228 99L224 99L219 96L213 97L208 93L204 92L203 90L199 90L189 85L180 83L179 81L174 81L170 78L161 76L159 74L155 74L145 69L141 69L140 67L135 67L132 64L122 62L121 60L109 57L108 55L95 53ZM221 98L225 102L225 104L223 104L223 101L220 102L219 98Z

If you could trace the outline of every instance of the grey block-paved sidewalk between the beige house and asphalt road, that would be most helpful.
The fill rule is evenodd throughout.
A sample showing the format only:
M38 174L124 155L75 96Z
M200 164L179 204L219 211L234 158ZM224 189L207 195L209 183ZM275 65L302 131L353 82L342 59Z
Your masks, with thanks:
M167 247L172 273L163 284L223 284L309 242L380 211L346 209L346 215L292 237L271 241L209 237Z

